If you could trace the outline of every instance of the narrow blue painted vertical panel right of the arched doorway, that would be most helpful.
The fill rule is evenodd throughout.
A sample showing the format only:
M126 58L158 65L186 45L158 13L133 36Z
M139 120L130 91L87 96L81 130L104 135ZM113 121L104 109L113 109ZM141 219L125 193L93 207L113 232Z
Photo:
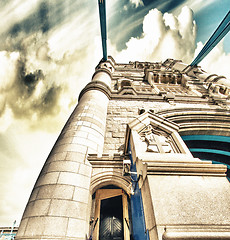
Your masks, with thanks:
M129 147L130 149L130 147ZM129 150L129 157L131 160L131 172L136 172L136 164L133 164L132 153ZM143 209L143 202L141 196L141 190L138 184L138 177L136 174L131 173L132 186L134 189L134 194L130 197L131 205L131 217L133 226L133 239L135 240L149 240L149 232L146 230L145 226L145 216Z

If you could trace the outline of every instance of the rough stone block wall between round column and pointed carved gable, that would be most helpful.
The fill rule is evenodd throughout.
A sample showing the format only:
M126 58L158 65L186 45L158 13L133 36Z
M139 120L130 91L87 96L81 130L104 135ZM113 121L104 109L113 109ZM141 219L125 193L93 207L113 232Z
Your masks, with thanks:
M145 111L151 110L155 113L161 112L166 109L176 108L210 108L206 104L192 104L192 103L169 103L167 101L152 102L152 101L134 101L130 97L129 100L110 100L108 105L107 119L106 119L106 132L103 153L114 154L123 153L125 132L129 122L138 117L141 109ZM213 108L213 105L212 105ZM218 106L214 108L219 108Z

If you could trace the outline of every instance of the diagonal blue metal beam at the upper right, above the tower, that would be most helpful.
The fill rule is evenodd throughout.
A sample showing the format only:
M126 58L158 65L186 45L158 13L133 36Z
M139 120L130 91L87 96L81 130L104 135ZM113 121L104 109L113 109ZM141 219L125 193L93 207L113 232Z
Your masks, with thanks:
M199 64L209 52L220 42L220 40L229 32L230 30L230 11L225 16L224 20L217 27L216 31L210 37L208 42L204 45L200 53L193 60L190 66L196 66Z

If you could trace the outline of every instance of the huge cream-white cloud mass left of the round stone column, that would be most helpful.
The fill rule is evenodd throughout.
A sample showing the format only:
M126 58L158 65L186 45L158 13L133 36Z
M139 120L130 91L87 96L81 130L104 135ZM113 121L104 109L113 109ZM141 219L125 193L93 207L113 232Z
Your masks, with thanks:
M102 57L99 25L87 11L46 34L9 35L10 48L0 51L2 225L19 223L38 172Z

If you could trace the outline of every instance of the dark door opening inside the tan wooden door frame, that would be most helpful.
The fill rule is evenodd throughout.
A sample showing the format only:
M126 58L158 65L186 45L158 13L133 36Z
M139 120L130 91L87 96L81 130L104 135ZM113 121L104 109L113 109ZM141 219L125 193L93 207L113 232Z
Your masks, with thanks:
M101 200L99 240L123 240L122 196Z

